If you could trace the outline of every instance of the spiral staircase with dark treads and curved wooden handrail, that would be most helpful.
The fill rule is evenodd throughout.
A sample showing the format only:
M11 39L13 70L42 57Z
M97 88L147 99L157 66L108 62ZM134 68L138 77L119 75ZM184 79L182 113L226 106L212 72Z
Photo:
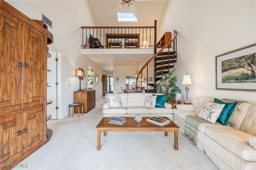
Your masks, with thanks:
M154 59L154 82L153 83L144 82L144 83L147 83L148 86L154 87L152 88L152 90L148 89L148 91L150 92L156 93L157 81L162 79L163 75L168 73L169 69L173 68L174 63L177 62L176 61L177 59L176 38L177 38L178 32L176 30L173 30L173 31L174 31L174 38L169 42L165 42L164 45L162 45L163 47L157 52L156 52L157 45L155 45L155 54L145 63L145 65L138 72L138 75L142 75L142 71L145 68L148 68L148 64L150 63L150 61ZM138 77L136 78L136 87L137 86L138 86Z

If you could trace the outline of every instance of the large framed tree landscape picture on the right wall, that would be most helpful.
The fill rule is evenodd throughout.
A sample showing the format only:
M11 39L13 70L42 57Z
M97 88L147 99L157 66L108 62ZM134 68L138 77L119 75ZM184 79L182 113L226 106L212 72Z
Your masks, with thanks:
M255 66L256 43L215 56L216 90L256 92Z

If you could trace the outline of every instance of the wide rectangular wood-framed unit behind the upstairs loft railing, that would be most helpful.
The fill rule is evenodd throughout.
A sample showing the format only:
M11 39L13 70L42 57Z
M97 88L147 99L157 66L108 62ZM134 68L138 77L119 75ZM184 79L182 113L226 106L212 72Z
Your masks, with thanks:
M140 34L106 34L106 48L139 48Z

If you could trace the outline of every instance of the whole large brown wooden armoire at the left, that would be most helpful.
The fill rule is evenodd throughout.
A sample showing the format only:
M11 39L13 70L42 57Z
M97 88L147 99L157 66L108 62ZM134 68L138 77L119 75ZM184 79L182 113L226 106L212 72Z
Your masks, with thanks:
M0 8L0 168L10 169L49 140L46 69L51 34L4 0Z

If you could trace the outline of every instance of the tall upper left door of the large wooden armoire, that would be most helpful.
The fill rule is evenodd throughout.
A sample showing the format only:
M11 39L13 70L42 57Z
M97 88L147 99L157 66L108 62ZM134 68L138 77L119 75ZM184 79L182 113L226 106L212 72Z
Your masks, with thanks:
M0 113L22 108L22 67L19 65L19 20L1 9L0 15ZM21 55L22 56L22 55ZM22 60L21 60L22 62ZM2 109L3 108L3 109Z

